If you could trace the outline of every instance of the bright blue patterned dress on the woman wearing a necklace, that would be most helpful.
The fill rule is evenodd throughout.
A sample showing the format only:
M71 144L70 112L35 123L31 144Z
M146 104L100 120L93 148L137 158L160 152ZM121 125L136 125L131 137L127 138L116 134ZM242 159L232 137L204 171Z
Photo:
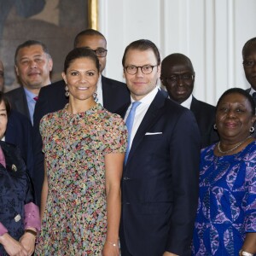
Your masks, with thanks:
M247 232L256 232L256 142L241 152L202 149L200 197L192 255L237 256Z

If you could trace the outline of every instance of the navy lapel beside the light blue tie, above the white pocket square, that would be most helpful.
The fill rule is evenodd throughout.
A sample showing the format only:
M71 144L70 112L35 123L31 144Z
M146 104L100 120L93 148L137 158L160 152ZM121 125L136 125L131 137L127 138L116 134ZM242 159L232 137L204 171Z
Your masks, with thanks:
M147 113L145 114L141 125L139 126L137 133L132 141L131 150L128 156L127 164L129 159L136 151L138 145L142 142L145 133L152 127L157 119L160 118L160 110L164 106L166 96L164 96L160 91L154 97L153 102L150 104Z

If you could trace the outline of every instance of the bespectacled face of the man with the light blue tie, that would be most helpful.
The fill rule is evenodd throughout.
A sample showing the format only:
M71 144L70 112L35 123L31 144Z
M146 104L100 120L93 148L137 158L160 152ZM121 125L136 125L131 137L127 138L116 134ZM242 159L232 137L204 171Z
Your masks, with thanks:
M139 50L129 49L125 55L125 67L127 66L155 66L157 59L153 49ZM153 68L152 73L144 74L141 68L138 68L137 73L131 75L124 68L124 74L128 89L131 91L131 96L134 100L139 101L144 96L156 87L157 79L160 78L160 66Z

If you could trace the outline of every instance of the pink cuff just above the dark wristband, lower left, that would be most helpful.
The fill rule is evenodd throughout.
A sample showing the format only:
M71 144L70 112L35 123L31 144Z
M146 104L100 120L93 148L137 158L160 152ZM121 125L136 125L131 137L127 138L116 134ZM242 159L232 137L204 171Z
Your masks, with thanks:
M27 228L35 228L36 230L41 230L41 221L40 221L40 214L39 214L39 207L36 206L34 203L30 202L25 205L25 230Z

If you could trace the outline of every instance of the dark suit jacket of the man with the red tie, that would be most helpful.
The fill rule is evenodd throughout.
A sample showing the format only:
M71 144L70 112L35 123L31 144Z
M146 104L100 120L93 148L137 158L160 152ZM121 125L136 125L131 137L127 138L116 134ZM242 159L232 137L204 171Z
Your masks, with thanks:
M26 101L26 93L23 87L16 88L6 92L5 95L9 98L12 109L26 115L30 120L30 114Z

